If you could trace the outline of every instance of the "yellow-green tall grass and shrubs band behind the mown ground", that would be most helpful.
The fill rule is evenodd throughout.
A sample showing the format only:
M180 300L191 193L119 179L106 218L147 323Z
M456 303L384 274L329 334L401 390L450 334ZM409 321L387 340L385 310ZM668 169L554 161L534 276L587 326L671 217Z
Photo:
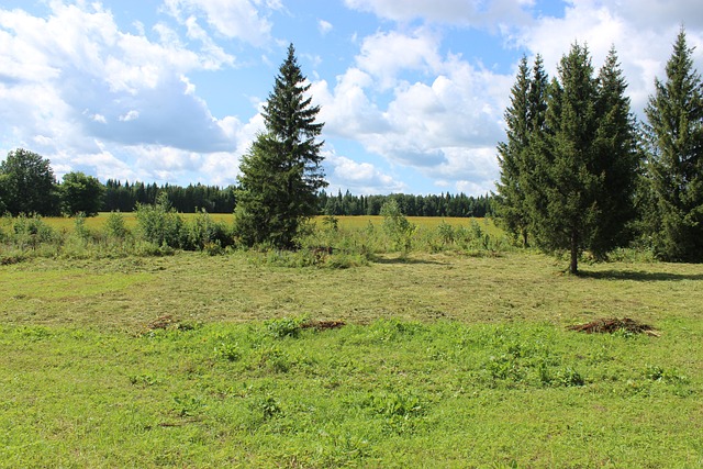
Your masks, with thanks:
M0 263L27 258L119 258L164 256L178 250L220 255L239 249L233 221L207 212L183 215L167 201L141 205L135 214L102 214L101 221L40 216L3 217ZM488 221L384 217L313 219L298 238L295 252L255 249L255 261L283 266L352 267L377 255L458 252L495 255L512 249ZM258 259L258 260L257 260Z

